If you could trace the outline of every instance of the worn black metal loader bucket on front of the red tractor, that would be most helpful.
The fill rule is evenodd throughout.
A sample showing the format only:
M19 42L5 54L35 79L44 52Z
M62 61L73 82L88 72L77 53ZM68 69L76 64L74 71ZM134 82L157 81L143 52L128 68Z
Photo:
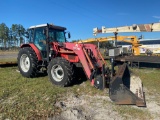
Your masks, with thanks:
M116 76L111 80L109 96L116 104L146 106L141 79L130 75L126 63L119 67Z

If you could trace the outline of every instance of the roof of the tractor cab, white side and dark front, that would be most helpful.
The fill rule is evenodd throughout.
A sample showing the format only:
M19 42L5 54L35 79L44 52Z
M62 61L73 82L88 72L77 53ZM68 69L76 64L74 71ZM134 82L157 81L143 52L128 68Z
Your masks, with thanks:
M66 30L65 27L56 26L53 24L48 24L48 25L49 25L49 28L58 29L58 30ZM34 29L34 28L38 28L38 27L47 27L47 24L34 25L34 26L29 27L29 29Z

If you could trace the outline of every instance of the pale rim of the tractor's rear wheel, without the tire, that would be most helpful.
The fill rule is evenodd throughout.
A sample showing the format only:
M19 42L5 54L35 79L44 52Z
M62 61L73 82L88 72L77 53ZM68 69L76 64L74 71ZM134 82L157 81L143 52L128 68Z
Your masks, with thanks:
M30 60L28 55L23 54L20 58L20 66L23 72L28 72L30 68Z

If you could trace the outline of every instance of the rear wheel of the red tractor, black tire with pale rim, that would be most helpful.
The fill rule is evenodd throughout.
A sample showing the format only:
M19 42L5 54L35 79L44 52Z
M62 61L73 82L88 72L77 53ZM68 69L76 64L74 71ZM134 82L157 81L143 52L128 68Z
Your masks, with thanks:
M36 77L38 59L34 50L30 47L21 48L18 53L18 68L24 77Z

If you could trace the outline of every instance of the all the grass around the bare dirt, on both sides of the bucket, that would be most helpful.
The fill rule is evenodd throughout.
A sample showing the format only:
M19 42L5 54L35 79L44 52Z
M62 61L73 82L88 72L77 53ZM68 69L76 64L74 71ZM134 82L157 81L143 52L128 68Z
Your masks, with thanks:
M0 119L46 119L54 116L61 111L55 103L68 93L106 96L106 92L92 87L89 81L63 88L52 85L47 76L24 78L16 70L17 67L0 68ZM132 71L142 79L147 94L157 94L155 100L159 102L159 70L134 68ZM146 109L110 104L114 111L126 119L130 116L135 119L152 119Z

